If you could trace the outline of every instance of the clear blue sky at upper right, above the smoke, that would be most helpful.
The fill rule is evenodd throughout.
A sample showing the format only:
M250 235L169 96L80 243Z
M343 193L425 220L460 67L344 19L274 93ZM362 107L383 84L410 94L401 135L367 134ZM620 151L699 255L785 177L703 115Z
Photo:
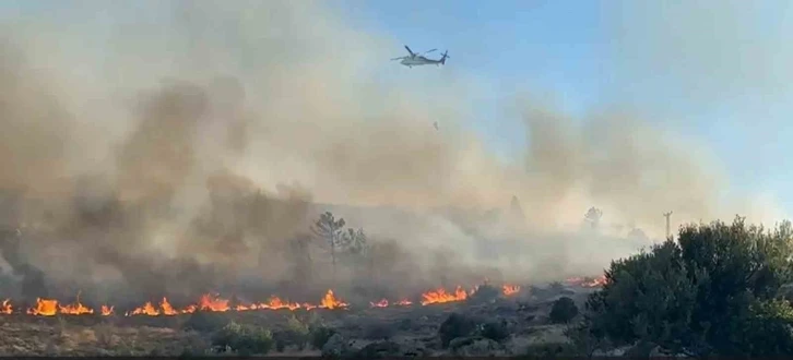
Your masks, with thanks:
M415 50L448 48L449 67L486 79L473 125L501 154L525 146L520 119L504 110L517 91L551 94L573 117L617 106L699 139L733 191L772 192L793 211L784 1L334 3Z

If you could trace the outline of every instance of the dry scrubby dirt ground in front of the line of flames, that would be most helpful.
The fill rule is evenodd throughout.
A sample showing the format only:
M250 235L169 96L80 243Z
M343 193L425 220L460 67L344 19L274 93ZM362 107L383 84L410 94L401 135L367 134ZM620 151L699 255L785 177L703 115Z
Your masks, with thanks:
M271 356L320 356L336 346L344 353L374 355L523 355L533 344L567 341L565 325L551 324L553 301L570 297L582 308L589 289L556 289L499 298L486 303L465 301L393 308L248 311L177 316L57 315L0 316L0 356L184 356L211 355L212 338L229 322L273 332L286 329L296 319L320 322L334 335L323 347L273 348ZM506 324L509 336L500 341L458 339L443 346L438 329L451 313ZM338 343L336 345L330 343ZM457 341L457 344L454 344ZM368 347L367 347L368 346ZM455 349L450 349L455 348ZM368 352L367 352L368 353ZM374 356L368 353L368 356Z

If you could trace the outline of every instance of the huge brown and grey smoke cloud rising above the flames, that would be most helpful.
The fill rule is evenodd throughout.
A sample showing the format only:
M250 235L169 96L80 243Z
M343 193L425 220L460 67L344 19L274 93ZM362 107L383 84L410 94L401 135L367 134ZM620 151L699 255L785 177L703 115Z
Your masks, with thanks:
M724 216L715 161L623 113L521 99L525 161L501 164L462 124L464 77L383 80L400 45L320 2L80 3L7 22L0 48L0 187L36 233L3 256L42 287L319 289L333 279L308 228L328 209L376 243L341 276L393 292L597 271L636 243L571 228L593 205L655 236L668 209ZM513 196L524 215L499 221Z

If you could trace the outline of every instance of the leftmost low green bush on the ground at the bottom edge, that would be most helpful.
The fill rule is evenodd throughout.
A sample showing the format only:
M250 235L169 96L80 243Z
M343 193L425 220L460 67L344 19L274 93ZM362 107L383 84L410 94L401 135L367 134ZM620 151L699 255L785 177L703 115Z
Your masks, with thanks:
M212 345L247 356L268 353L274 341L268 329L230 322L214 334Z

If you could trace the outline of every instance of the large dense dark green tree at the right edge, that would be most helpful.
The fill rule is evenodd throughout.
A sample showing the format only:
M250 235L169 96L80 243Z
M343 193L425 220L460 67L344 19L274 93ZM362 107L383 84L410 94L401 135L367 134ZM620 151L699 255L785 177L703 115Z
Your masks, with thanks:
M777 300L793 281L791 229L689 225L677 242L613 262L587 302L591 334L695 357L793 355L793 311Z

